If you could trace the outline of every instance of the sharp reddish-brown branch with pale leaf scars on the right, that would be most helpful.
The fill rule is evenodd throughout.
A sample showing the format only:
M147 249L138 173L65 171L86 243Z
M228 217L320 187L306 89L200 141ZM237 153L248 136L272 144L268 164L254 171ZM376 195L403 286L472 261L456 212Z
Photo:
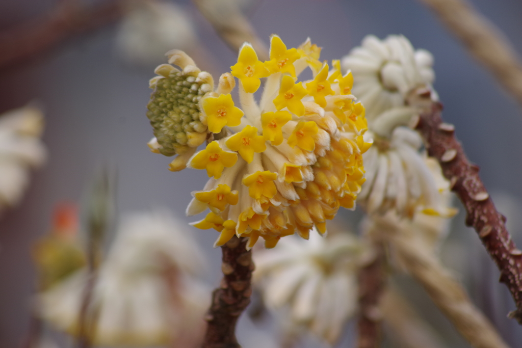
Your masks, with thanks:
M479 234L489 255L501 272L500 281L507 285L517 309L509 317L522 325L522 251L517 249L506 230L505 217L499 213L479 177L479 167L466 158L464 149L454 135L454 126L443 123L442 105L434 103L432 110L419 117L416 129L424 137L430 156L441 164L466 209L466 224Z

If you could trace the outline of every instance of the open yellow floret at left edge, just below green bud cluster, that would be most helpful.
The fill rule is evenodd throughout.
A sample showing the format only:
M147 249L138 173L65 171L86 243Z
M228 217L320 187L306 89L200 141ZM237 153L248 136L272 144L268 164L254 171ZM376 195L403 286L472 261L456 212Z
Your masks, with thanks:
M191 159L190 165L195 169L206 169L209 177L221 176L224 167L231 167L238 161L238 154L223 151L217 141L212 141L205 150L201 150Z

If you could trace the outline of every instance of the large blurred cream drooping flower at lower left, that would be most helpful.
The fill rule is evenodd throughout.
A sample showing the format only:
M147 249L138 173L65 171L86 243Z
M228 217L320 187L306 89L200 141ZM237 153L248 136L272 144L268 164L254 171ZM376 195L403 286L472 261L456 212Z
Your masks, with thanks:
M164 212L123 220L99 269L88 309L97 318L94 345L200 343L210 300L198 280L205 262L195 242L180 231L182 226ZM42 293L41 317L77 334L86 281L86 271L80 270Z

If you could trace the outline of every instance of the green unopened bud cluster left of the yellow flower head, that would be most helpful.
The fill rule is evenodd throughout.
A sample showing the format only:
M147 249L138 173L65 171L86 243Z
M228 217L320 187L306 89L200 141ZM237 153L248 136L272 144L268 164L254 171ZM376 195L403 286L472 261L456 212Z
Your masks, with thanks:
M172 156L188 149L190 139L197 138L202 143L207 126L200 121L199 99L209 86L177 69L154 83L147 117L161 145L159 152Z

